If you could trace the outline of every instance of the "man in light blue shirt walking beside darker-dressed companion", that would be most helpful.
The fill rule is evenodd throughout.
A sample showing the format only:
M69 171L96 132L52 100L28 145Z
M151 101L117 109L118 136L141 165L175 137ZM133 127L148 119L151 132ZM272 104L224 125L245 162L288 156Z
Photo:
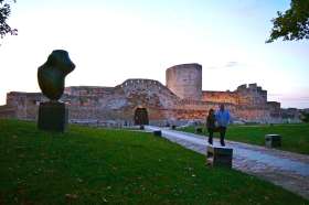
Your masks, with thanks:
M224 104L220 105L220 109L215 114L215 120L219 126L219 132L220 132L220 143L222 147L225 145L224 138L226 133L227 126L230 123L230 111L224 109Z

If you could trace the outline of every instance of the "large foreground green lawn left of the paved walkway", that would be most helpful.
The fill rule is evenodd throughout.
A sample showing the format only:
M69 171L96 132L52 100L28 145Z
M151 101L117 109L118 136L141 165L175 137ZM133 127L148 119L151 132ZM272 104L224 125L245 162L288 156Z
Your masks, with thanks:
M150 133L0 120L0 204L309 204Z

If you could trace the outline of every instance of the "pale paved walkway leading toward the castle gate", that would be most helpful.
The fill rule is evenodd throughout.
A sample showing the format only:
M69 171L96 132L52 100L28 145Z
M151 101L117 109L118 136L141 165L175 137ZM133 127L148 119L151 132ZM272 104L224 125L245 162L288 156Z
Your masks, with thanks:
M161 130L163 138L199 153L206 153L205 137L152 126L146 126L146 130ZM270 181L309 199L309 155L228 140L225 143L233 148L234 169ZM214 140L214 145L220 144Z

